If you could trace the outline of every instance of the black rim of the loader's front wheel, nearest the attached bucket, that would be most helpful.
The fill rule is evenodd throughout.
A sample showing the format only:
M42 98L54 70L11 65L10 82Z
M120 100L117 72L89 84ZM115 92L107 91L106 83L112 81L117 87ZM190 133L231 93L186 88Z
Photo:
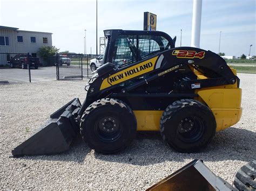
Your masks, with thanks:
M114 142L123 132L119 120L113 116L104 116L95 124L95 135L103 142Z

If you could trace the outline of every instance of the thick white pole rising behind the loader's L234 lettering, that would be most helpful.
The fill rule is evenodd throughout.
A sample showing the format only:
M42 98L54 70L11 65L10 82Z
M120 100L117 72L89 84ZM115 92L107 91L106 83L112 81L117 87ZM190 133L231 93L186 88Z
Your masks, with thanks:
M193 0L191 46L200 47L200 30L203 0Z

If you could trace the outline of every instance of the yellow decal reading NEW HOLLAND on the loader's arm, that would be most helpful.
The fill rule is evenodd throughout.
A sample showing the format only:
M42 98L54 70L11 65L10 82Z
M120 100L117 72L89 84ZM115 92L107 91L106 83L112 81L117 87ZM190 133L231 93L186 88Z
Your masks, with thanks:
M103 80L102 85L100 86L100 90L152 71L154 69L154 65L156 64L157 58L158 56L144 62L140 62L137 65L126 68L116 74L107 77Z

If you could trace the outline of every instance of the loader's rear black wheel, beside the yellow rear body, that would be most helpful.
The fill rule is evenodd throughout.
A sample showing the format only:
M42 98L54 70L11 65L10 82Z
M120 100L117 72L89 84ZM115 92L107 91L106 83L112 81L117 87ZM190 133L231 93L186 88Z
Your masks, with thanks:
M195 152L207 145L215 135L212 111L196 100L180 100L170 104L160 120L164 141L179 152Z

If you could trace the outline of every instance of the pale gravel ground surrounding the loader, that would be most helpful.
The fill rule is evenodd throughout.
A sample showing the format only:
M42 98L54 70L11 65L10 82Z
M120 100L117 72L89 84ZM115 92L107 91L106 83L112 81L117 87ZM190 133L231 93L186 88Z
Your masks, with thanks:
M203 159L232 183L235 172L255 159L255 74L241 79L241 121L217 133L200 153L182 154L165 146L159 133L137 133L125 151L97 154L80 138L58 155L9 158L49 115L74 97L85 98L85 81L47 81L0 86L0 189L146 189L193 159Z

